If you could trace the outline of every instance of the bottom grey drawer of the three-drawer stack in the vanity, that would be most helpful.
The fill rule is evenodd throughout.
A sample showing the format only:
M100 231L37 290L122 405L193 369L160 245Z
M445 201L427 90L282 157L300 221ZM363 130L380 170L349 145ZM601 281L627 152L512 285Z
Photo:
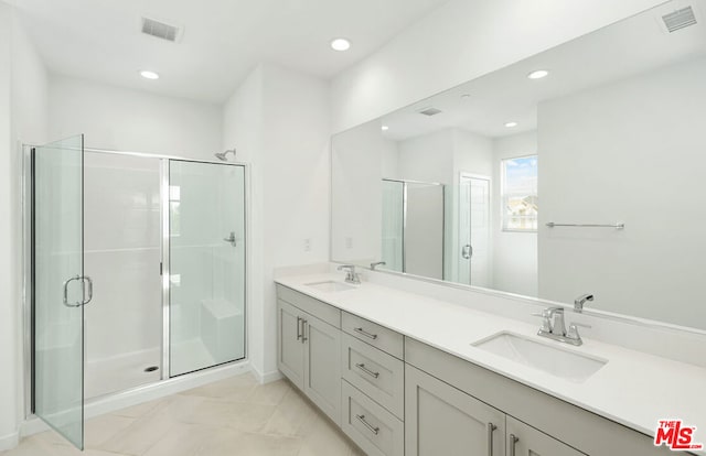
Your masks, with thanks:
M343 432L368 456L404 456L403 422L347 381L341 382Z

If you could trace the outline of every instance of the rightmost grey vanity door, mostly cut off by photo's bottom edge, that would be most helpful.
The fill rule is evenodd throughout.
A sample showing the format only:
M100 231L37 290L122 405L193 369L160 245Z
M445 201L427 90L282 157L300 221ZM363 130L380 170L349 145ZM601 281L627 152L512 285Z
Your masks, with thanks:
M581 456L585 453L507 416L507 456Z

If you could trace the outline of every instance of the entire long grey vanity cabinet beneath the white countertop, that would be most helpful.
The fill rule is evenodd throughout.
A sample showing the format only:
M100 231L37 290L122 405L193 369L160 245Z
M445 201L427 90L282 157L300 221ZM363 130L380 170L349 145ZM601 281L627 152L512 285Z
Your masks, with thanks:
M371 456L665 456L652 438L287 286L280 371Z

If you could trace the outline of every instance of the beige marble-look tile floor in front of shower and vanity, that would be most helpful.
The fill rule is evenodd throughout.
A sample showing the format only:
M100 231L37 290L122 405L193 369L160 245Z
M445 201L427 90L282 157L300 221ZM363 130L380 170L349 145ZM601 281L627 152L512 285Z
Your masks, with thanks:
M52 432L25 437L1 456L82 453ZM86 421L85 456L364 455L286 380L250 374Z

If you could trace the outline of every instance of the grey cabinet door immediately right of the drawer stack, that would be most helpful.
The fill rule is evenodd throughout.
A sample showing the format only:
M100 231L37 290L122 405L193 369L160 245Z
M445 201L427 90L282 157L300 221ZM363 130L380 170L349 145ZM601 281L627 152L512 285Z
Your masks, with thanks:
M409 365L406 456L502 456L505 414Z

